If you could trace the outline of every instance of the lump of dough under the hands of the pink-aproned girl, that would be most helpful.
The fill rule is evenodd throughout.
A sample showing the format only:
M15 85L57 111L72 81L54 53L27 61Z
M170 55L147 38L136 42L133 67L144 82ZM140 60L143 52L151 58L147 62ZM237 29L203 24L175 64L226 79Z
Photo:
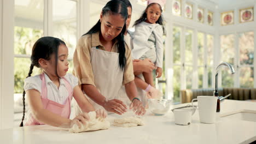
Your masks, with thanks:
M82 127L78 127L77 124L74 124L71 129L69 129L69 132L71 133L80 133L83 131L94 131L94 130L100 130L100 129L108 129L110 127L110 123L108 121L105 121L104 118L98 117L96 118L96 112L91 111L88 113L90 116L90 121L87 121L86 124L82 124Z

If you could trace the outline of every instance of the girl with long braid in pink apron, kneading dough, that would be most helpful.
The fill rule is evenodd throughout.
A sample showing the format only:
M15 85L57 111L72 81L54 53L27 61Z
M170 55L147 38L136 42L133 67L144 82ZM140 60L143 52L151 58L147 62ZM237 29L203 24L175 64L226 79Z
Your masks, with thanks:
M85 124L89 111L94 106L84 97L75 76L67 74L68 49L64 41L43 37L36 41L32 49L30 72L25 80L23 92L23 117L25 117L25 94L28 99L27 121L25 125L48 124L54 127L71 128L74 123ZM43 73L31 76L33 67L41 68ZM78 101L83 113L69 119L72 98ZM96 110L97 117L106 117L106 112Z

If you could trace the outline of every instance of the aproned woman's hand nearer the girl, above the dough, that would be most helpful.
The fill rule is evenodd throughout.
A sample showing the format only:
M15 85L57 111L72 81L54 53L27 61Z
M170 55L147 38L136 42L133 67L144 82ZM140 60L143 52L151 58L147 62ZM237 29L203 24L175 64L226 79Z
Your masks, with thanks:
M118 99L106 100L102 106L107 111L117 113L118 115L122 115L122 113L125 113L127 109L123 101Z

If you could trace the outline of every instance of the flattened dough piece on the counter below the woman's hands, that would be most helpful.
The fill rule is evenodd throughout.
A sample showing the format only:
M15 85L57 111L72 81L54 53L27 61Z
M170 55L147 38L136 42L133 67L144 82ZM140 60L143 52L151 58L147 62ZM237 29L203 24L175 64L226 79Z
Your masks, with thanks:
M137 125L144 125L145 123L138 117L125 117L114 119L114 126L117 127L136 127Z

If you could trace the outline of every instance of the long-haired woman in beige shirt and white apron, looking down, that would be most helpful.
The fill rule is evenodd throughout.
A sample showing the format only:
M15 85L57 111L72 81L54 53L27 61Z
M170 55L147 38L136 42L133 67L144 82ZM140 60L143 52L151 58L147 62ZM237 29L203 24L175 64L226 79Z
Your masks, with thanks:
M126 19L124 2L112 0L103 7L100 20L78 41L73 57L74 75L95 107L119 115L125 113L127 107L120 100L124 85L131 101L129 108L144 115L146 110L134 82L131 50L124 42Z

